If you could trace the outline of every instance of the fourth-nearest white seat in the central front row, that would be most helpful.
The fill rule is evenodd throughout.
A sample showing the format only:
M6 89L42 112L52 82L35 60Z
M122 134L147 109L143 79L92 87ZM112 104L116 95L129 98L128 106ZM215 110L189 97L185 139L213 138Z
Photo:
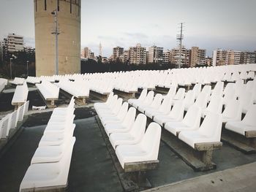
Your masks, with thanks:
M102 125L105 125L107 123L121 122L122 120L124 120L125 115L127 115L128 105L129 104L127 102L124 102L116 116L102 117L101 118Z

